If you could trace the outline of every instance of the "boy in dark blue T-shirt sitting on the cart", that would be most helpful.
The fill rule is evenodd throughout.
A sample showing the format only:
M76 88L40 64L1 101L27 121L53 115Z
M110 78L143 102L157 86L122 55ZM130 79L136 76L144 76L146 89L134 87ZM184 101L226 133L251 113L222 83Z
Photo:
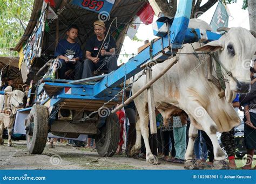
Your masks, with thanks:
M75 69L75 80L81 78L83 52L76 38L79 33L79 28L76 25L71 25L66 31L68 38L60 40L55 50L55 56L59 56L59 79L65 79L65 72L68 68Z

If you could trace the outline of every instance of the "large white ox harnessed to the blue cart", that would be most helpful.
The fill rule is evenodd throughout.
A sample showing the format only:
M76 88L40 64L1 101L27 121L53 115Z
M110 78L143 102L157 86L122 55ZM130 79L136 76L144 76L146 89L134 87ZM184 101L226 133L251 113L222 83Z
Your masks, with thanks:
M190 20L190 28L211 30L211 27L201 20ZM255 37L255 36L254 36ZM207 81L207 62L210 57L207 54L198 54L201 63L193 54L180 54L179 61L156 83L153 84L154 102L156 109L165 118L169 117L173 111L173 105L183 109L191 119L189 130L189 141L185 154L185 168L193 168L193 147L197 137L198 129L204 130L210 137L214 147L214 164L216 168L221 168L224 163L225 154L221 150L216 132L230 131L240 123L237 112L232 107L232 100L237 93L247 93L250 90L250 70L251 58L256 51L255 38L250 31L241 27L233 27L219 40L212 41L206 45L194 43L197 51L215 52L221 63L232 73L225 75L226 89L225 97L220 98L218 94L221 89L212 82ZM203 45L203 46L202 46ZM181 53L193 53L191 44L185 44ZM161 72L170 62L166 60L152 67L153 78ZM222 69L222 72L226 74ZM215 75L215 65L212 75ZM139 73L140 74L140 73ZM139 75L137 74L137 75ZM133 84L134 94L146 83L146 76L141 77ZM153 164L156 159L149 146L149 114L147 109L146 91L138 96L134 103L138 110L139 119L136 124L137 139L130 154L139 152L141 137L143 136L146 146L146 160ZM142 135L142 136L141 136Z

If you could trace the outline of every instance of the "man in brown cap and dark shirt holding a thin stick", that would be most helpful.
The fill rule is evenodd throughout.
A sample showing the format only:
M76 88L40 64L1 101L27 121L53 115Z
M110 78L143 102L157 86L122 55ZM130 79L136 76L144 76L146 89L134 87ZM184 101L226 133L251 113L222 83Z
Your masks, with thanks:
M87 41L85 46L86 60L84 61L82 79L100 75L102 70L110 73L118 68L117 58L114 55L117 47L114 38L110 35L106 37L104 22L98 20L93 23L93 26L95 35Z

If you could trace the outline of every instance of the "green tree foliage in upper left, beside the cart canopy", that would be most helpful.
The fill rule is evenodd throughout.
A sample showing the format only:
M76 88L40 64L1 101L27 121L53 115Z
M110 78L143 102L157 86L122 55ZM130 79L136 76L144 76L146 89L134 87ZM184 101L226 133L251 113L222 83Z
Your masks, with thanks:
M22 22L27 25L33 8L33 0L0 0L0 56L15 56L10 51L23 36Z

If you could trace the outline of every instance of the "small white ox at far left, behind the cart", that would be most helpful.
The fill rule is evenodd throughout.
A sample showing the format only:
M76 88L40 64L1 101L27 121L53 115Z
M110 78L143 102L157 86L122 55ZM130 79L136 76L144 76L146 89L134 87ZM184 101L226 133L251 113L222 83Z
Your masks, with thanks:
M5 95L0 95L0 145L4 144L3 130L8 130L8 146L12 146L11 135L17 109L23 107L24 93L20 90L12 91L8 86Z

